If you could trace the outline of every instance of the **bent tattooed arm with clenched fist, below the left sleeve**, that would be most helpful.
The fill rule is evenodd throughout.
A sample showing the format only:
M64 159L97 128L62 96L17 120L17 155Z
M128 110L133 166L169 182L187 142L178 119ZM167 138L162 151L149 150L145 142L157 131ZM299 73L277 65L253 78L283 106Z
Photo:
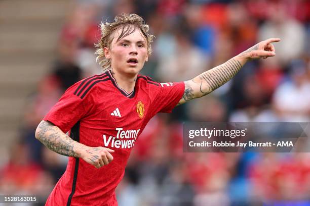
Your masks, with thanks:
M60 155L82 158L96 168L107 165L113 160L110 153L114 152L114 150L101 146L90 147L81 144L63 133L59 127L44 120L37 126L35 138Z

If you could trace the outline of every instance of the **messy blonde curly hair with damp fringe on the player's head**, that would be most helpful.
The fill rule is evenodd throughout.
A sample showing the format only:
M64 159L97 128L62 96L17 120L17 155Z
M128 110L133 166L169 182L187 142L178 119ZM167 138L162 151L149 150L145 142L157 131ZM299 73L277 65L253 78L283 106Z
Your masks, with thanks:
M111 60L105 58L104 56L104 47L111 48L111 43L113 40L114 31L122 28L122 32L118 38L118 41L125 36L133 33L136 29L140 29L141 33L146 39L147 43L147 54L150 55L152 53L151 42L153 39L153 35L148 34L149 27L145 24L142 17L136 14L125 14L122 13L121 16L117 16L114 18L113 22L105 22L100 24L101 27L101 38L98 44L95 44L97 47L95 54L98 55L96 61L99 62L99 65L102 71L106 71L111 67Z

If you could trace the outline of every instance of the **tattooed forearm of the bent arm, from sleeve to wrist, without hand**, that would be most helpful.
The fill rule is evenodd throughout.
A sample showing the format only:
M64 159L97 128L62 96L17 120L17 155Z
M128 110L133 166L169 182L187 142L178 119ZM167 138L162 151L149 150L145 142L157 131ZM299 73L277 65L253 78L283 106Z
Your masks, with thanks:
M60 155L79 157L79 154L74 152L73 148L81 147L81 145L50 122L42 121L38 125L36 135L45 146Z

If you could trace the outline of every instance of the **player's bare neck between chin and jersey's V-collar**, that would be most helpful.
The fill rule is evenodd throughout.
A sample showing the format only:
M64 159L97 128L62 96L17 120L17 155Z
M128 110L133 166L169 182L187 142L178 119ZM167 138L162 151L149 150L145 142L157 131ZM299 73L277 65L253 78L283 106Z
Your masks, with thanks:
M110 72L119 87L124 89L128 94L134 90L138 74L124 75L113 70L110 70Z

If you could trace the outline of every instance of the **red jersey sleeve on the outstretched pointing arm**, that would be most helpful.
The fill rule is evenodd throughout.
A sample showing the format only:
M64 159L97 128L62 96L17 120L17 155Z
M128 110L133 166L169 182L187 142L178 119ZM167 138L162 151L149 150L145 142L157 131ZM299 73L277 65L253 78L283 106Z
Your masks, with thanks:
M171 113L183 96L184 87L184 82L160 83L158 93L152 102L153 112Z

